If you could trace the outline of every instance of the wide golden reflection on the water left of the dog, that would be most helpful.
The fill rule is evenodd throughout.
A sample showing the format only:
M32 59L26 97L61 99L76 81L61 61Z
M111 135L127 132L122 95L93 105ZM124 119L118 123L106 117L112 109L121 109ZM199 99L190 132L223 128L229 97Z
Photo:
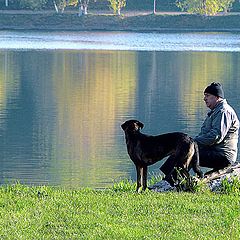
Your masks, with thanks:
M55 57L56 148L63 171L79 169L72 181L79 181L80 175L82 182L94 181L99 174L123 175L119 162L106 151L115 156L115 138L109 136L116 134L116 117L125 115L131 105L134 108L135 54L100 51Z

